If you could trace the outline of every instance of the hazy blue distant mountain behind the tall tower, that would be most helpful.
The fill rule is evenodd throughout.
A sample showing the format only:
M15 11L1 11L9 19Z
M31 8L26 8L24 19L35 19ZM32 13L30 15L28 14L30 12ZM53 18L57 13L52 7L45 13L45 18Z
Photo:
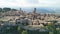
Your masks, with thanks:
M32 12L34 8L22 8L22 10L27 11L27 12ZM53 9L50 8L37 8L37 12L42 12L42 13L55 13Z

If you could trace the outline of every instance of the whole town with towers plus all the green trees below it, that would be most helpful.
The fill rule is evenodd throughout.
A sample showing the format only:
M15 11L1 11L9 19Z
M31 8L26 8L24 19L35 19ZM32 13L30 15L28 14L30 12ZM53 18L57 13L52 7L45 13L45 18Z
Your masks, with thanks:
M60 16L36 10L0 12L0 34L60 34Z

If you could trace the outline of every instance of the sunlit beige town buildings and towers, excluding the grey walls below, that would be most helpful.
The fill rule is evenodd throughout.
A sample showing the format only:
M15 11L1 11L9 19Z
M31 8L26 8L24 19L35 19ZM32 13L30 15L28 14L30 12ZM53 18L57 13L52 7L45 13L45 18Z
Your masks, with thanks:
M29 25L40 25L42 23L49 23L48 21L58 21L60 22L60 17L54 14L48 14L48 13L37 13L36 8L32 12L26 12L23 10L17 10L17 11L9 11L2 13L0 15L0 22L1 21L11 21L11 22L22 22L24 19L28 20L27 22Z

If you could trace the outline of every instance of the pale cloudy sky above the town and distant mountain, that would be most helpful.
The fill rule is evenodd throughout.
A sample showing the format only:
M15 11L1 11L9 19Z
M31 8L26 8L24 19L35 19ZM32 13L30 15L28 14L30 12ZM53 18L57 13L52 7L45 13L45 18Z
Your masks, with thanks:
M0 7L53 7L53 8L60 8L60 0L0 0Z

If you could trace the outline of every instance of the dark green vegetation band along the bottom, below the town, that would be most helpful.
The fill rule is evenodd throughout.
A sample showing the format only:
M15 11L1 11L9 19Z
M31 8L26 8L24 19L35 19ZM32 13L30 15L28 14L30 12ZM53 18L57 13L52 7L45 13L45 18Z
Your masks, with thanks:
M54 22L55 23L55 22ZM39 32L38 30L26 30L17 26L1 26L0 34L60 34L60 29L56 30L54 23L46 26L46 29L50 29L50 32Z

